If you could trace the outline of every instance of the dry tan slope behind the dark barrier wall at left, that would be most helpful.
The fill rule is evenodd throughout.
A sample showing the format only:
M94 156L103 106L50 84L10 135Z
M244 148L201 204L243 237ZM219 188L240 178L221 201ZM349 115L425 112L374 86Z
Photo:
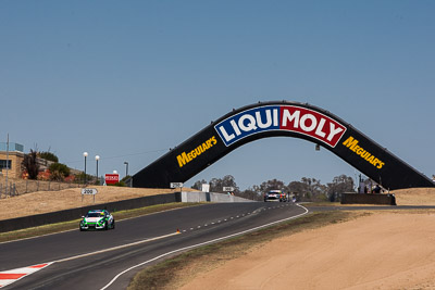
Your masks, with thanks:
M82 197L82 188L69 188L59 191L37 191L17 197L0 199L0 220L179 191L179 189L109 186L90 186L88 188L95 188L98 191L95 197L95 203L92 196ZM189 190L191 191L192 189L183 189L183 191Z

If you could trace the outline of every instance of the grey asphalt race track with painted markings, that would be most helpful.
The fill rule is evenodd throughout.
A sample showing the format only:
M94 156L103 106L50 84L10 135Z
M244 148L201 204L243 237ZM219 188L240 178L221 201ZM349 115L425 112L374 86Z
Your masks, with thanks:
M304 213L293 203L207 204L117 220L114 230L83 232L77 225L73 231L0 243L0 272L54 262L2 289L125 289L138 270L173 251Z

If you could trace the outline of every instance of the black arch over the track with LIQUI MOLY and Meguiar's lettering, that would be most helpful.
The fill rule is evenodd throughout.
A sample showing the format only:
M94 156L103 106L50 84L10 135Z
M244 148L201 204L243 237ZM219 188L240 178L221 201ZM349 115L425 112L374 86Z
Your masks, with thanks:
M330 112L306 103L265 102L234 110L133 176L133 187L184 182L231 151L261 138L312 141L385 188L434 187L434 182Z

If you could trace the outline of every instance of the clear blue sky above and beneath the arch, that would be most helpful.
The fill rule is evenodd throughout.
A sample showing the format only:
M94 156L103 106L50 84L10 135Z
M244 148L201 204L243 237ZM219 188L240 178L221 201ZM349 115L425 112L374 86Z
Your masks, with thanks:
M0 1L0 140L134 174L233 108L326 109L432 177L435 1ZM270 138L186 185L358 174ZM174 180L176 181L176 180Z

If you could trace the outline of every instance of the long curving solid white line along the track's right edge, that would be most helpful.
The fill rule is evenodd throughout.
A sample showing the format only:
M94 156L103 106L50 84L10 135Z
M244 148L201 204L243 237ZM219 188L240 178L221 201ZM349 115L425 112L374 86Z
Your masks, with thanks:
M282 222L295 219L295 218L298 218L298 217L300 217L300 216L302 216L302 215L308 214L308 210L307 210L306 207L303 207L302 205L299 205L299 204L296 204L296 205L299 206L299 207L302 207L306 212L302 213L302 214L298 214L298 215L295 215L295 216L291 216L291 217L287 217L287 218L281 219L281 220L276 220L276 222L273 222L273 223L269 223L269 224L266 224L266 225L262 225L262 226L258 226L258 227L254 227L254 228L251 228L251 229L246 229L246 230L243 230L243 231L239 231L239 232L236 232L236 234L232 234L232 235L226 236L226 237L222 237L222 238L217 238L217 239L214 239L214 240L210 240L210 241L197 243L197 244L194 244L194 245L188 245L188 247L185 247L185 248L181 248L181 249L177 249L177 250L174 250L174 251L171 251L171 252L161 254L161 255L159 255L159 256L156 256L156 257L153 257L153 259L151 259L151 260L145 261L145 262L142 262L142 263L140 263L140 264L137 264L137 265L135 265L135 266L132 266L132 267L129 267L129 268L127 268L127 269L121 272L121 273L117 274L115 277L113 277L113 279L112 279L108 285L105 285L103 288L101 288L100 290L105 290L105 289L108 289L114 281L116 281L117 278L121 277L121 275L123 275L123 274L125 274L125 273L127 273L127 272L129 272L129 270L132 270L132 269L134 269L134 268L144 266L144 265L146 265L146 264L148 264L148 263L151 263L151 262L153 262L153 261L156 261L156 260L159 260L159 259L161 259L161 257L164 257L164 256L167 256L167 255L171 255L171 254L181 252L181 251L186 251L186 250L190 250L190 249L198 248L198 247L201 247L201 245L206 245L206 244L209 244L209 243L222 241L222 240L225 240L225 239L228 239L228 238L233 238L233 237L236 237L236 236L240 236L240 235L247 234L247 232L249 232L249 231L253 231L253 230L257 230L257 229L261 229L261 228L264 228L264 227L269 227L269 226L272 226L272 225L282 223Z

